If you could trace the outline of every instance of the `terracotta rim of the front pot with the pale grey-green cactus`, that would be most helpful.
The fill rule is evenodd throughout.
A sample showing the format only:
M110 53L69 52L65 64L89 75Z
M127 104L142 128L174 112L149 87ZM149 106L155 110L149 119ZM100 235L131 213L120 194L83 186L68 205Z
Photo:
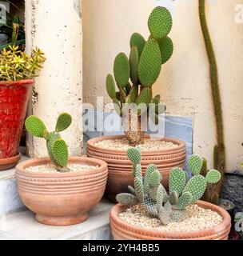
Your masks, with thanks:
M131 236L136 236L139 238L139 236L142 234L143 237L147 238L165 238L165 239L188 239L188 238L193 238L193 239L200 239L200 238L205 238L205 236L212 236L212 235L218 235L222 236L222 234L226 234L231 228L231 217L229 213L222 209L219 206L215 206L209 202L204 202L204 201L197 201L197 205L201 206L202 208L205 209L210 209L213 211L216 211L217 214L220 214L221 217L223 218L223 222L219 224L218 226L214 226L209 229L205 230L199 230L199 231L190 231L190 232L161 232L161 231L154 231L154 230L147 230L147 229L142 229L137 226L133 226L118 217L118 214L120 214L122 211L124 211L127 206L122 206L121 204L117 204L112 208L110 211L110 224L112 229L116 228L121 231L121 233L127 233L131 234Z

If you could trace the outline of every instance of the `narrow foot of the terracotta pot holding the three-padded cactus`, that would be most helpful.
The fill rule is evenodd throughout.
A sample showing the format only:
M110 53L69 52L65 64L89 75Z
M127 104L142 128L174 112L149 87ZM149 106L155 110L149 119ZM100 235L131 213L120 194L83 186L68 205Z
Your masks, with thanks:
M74 216L66 216L66 217L50 217L44 216L40 214L36 214L35 218L38 222L42 224L50 225L50 226L70 226L85 222L88 218L88 214L78 214Z

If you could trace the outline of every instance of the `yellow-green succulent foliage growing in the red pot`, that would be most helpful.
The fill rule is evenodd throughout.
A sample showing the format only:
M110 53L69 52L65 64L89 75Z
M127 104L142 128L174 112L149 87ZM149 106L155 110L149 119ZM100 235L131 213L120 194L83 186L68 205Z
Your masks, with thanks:
M9 49L4 48L0 53L0 81L18 81L38 76L46 60L41 50L36 48L29 56L18 50L18 46L10 46Z

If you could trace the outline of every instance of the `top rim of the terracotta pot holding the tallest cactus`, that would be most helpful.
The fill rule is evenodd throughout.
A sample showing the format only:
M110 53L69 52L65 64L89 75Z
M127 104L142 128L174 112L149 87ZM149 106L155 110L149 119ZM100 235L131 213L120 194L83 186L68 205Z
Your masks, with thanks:
M126 150L112 150L112 149L106 149L103 148L101 146L96 146L95 143L96 142L100 142L103 140L107 140L107 139L118 139L118 138L125 138L125 135L111 135L111 136L102 136L102 137L97 137L97 138L91 138L88 142L87 142L87 148L90 147L90 149L101 149L103 153L107 153L107 154L126 154ZM145 138L149 138L149 135L145 135ZM159 140L164 140L165 142L173 142L174 144L177 144L178 146L173 148L173 149L167 149L167 150L142 150L141 151L141 155L151 155L151 154L162 154L162 153L174 153L174 151L176 150L185 150L185 142L177 139L177 138L171 138L171 137L162 137L159 138Z

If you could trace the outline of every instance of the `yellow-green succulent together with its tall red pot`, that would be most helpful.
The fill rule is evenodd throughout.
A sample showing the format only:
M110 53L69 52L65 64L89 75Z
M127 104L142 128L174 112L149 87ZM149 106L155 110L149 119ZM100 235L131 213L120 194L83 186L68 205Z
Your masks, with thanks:
M18 46L9 46L0 53L0 170L12 168L20 159L18 146L33 78L43 62L44 54L39 49L31 56Z

